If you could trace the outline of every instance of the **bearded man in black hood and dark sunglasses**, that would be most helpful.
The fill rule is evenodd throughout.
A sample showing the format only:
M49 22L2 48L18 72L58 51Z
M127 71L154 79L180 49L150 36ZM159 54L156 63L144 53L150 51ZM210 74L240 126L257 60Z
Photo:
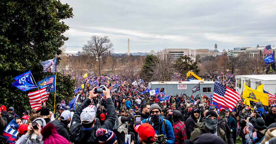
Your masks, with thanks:
M187 139L190 139L191 133L193 132L193 128L195 127L195 124L200 122L199 116L200 116L200 110L197 107L194 107L191 110L191 116L186 120Z

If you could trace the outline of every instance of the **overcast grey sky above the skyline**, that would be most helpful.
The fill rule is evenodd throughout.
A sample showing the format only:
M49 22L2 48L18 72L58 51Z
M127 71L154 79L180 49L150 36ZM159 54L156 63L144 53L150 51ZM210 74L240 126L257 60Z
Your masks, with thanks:
M276 1L61 0L73 7L67 46L107 35L115 53L167 48L233 49L276 45ZM68 47L68 51L81 48Z

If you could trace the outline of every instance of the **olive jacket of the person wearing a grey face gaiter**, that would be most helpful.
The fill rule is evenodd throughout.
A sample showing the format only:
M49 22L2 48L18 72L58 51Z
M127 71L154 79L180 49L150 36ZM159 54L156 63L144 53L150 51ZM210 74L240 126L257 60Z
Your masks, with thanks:
M205 123L206 122L197 123L195 125L195 130L192 132L190 140L194 140L196 137L200 136L201 134L209 133L208 129L205 127ZM218 126L217 126L217 136L221 137L225 141L225 143L228 144L225 132Z

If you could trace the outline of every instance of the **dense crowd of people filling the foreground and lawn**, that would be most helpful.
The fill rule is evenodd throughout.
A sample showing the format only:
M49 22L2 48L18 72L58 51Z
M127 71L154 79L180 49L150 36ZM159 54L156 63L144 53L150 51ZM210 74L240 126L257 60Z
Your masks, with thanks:
M228 82L231 86L232 82ZM225 84L226 85L226 84ZM76 109L65 101L53 113L46 105L20 117L1 106L0 134L11 121L18 125L16 143L265 143L276 141L276 104L237 103L234 111L210 104L208 96L182 93L160 101L163 94L143 93L146 84L120 85L103 94L95 87L82 91ZM234 87L233 87L234 88ZM141 124L135 122L140 116ZM0 136L2 141L5 137Z

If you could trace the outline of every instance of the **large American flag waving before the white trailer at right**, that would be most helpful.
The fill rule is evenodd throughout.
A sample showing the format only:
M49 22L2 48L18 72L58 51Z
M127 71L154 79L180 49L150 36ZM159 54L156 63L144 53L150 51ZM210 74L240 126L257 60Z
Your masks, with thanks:
M240 95L229 87L215 82L213 101L232 110L240 99Z

